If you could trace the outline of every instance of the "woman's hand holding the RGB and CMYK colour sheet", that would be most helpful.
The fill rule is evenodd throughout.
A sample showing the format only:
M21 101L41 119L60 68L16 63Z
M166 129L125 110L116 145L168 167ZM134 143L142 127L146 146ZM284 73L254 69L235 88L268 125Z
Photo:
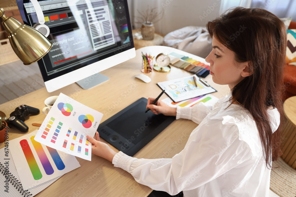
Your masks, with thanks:
M103 157L104 159L109 160L112 162L113 157L115 156L116 152L112 150L108 144L100 141L100 136L98 131L96 131L96 140L90 136L86 136L88 141L91 143L91 152L99 157Z

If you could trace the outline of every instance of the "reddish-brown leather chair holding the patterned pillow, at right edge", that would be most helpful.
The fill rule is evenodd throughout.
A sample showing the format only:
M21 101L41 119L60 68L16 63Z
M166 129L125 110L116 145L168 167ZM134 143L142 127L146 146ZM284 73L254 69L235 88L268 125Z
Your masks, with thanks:
M296 29L296 22L291 21L288 29ZM296 95L296 66L287 64L284 71L284 84L286 86L286 94L284 100Z

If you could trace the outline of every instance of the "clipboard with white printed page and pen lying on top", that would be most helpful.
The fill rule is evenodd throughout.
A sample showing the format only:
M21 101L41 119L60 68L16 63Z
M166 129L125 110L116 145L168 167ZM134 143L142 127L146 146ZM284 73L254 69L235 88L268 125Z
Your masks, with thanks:
M198 80L194 80L197 77ZM198 96L217 92L205 81L196 75L186 76L164 82L158 82L157 85L165 90L165 94L174 102L195 98Z

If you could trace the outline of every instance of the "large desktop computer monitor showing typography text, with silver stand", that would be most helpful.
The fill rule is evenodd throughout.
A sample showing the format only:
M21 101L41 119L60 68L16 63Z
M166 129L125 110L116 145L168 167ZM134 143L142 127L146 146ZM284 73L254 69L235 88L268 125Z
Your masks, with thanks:
M91 82L98 83L103 77L100 71L136 56L127 0L38 3L50 30L47 38L53 43L50 51L38 61L48 92L74 82L88 89ZM25 25L33 27L38 23L29 0L17 1L17 5Z

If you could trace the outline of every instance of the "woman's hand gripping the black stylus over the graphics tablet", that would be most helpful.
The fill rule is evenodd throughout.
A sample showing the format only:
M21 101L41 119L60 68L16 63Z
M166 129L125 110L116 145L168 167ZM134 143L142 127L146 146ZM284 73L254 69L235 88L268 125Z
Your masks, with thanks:
M155 100L155 98L148 98L147 106L146 108L149 108L152 113L155 113L156 115L159 113L162 113L163 115L171 115L176 116L177 115L177 108L173 108L162 102L161 100L158 100L155 105L151 105Z

